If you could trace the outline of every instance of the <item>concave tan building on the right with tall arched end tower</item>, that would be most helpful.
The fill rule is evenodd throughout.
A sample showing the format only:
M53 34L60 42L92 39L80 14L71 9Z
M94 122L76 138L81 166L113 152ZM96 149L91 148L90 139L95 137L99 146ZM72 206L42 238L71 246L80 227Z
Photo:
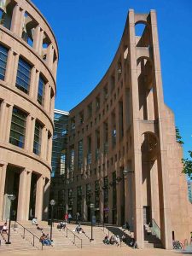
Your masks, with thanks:
M128 221L140 248L144 224L153 223L171 249L172 236L189 238L181 158L164 103L155 11L130 10L108 72L69 113L67 211L89 220L94 203L96 219Z

